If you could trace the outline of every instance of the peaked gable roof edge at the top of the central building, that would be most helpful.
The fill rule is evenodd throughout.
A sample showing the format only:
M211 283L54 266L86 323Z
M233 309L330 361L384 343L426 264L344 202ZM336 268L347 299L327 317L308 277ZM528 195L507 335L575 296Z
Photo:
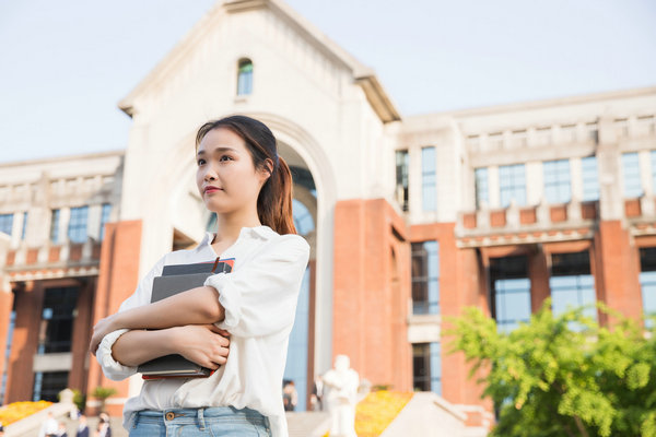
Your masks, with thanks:
M118 107L131 117L134 101L145 93L151 85L165 80L167 73L175 70L181 63L180 61L188 56L190 47L202 40L204 35L211 29L212 24L220 20L222 13L244 12L261 8L268 8L296 32L314 43L314 46L321 50L324 55L349 69L353 74L354 82L362 86L368 103L383 122L401 119L396 106L380 85L374 71L358 61L282 0L224 0L216 2L173 50L119 102Z

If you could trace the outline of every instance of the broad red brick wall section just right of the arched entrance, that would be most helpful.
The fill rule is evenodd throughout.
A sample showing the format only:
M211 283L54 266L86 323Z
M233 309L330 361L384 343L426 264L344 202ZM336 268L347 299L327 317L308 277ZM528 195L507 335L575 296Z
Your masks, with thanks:
M412 388L405 234L401 217L383 199L335 208L333 356L348 355L361 378L396 390Z

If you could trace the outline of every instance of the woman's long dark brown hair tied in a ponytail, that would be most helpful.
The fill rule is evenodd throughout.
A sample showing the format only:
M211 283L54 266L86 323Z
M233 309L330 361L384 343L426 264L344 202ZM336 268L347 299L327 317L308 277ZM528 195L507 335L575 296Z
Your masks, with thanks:
M257 198L257 215L261 224L278 234L296 234L292 214L292 173L282 156L278 155L276 137L271 130L263 122L246 116L208 121L198 129L196 150L204 135L218 128L230 129L244 140L256 169L268 168L267 158L273 162L271 176Z

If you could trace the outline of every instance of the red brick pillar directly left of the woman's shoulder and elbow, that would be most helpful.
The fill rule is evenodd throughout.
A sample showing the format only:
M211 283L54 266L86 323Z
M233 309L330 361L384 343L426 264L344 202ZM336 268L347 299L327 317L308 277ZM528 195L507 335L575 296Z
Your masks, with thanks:
M116 312L120 304L137 287L141 250L141 224L140 220L106 224L93 306L92 327L99 319ZM90 357L86 389L92 391L98 386L114 387L118 391L116 398L128 397L128 380L110 381L105 378L97 361L92 356ZM120 415L122 404L107 405L107 410L112 415Z

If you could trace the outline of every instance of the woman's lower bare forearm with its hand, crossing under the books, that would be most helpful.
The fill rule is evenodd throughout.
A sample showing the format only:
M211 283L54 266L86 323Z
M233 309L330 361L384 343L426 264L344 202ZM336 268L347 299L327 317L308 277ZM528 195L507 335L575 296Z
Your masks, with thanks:
M227 358L227 335L213 324L128 331L116 340L112 355L121 365L136 367L160 356L180 354L203 367L216 369Z

